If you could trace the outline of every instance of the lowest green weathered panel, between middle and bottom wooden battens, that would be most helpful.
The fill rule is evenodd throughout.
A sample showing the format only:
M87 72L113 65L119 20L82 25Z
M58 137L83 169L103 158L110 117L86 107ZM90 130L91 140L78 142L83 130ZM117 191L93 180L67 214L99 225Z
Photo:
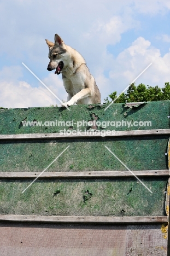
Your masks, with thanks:
M1 214L59 216L162 216L166 178L144 178L151 194L135 178L52 179L0 183ZM60 193L56 193L60 190ZM84 202L85 191L92 196Z

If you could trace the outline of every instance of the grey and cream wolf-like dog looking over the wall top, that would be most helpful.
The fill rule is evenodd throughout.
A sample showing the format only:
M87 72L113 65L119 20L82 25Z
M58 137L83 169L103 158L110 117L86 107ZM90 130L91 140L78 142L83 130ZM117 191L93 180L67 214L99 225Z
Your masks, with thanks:
M58 34L55 34L54 39L55 43L45 39L50 59L47 69L56 69L57 75L62 73L63 85L68 93L67 102L62 103L62 106L101 103L101 94L83 56L66 45Z

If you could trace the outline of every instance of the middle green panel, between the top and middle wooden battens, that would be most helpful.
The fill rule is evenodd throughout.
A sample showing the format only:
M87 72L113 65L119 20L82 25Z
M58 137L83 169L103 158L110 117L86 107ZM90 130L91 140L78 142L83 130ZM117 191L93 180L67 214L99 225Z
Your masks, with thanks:
M70 147L47 171L126 170L104 145L130 170L165 170L168 138L0 142L1 172L43 171L67 146Z

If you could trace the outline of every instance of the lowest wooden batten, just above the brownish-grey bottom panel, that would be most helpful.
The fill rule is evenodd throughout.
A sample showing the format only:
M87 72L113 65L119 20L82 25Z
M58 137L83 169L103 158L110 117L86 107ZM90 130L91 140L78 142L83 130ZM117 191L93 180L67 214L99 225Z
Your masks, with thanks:
M43 223L165 223L167 216L130 216L130 217L105 217L105 216L31 216L31 215L3 215L0 221L9 222L43 222Z

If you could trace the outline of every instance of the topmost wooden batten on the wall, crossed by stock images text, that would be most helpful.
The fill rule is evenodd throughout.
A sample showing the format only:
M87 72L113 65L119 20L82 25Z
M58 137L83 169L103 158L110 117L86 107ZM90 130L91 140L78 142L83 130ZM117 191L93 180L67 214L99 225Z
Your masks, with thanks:
M27 133L0 135L0 140L20 140L20 139L69 139L69 138L93 138L93 137L127 137L127 136L151 136L151 135L170 135L170 129L153 130L133 130L133 131L91 131L73 133Z

